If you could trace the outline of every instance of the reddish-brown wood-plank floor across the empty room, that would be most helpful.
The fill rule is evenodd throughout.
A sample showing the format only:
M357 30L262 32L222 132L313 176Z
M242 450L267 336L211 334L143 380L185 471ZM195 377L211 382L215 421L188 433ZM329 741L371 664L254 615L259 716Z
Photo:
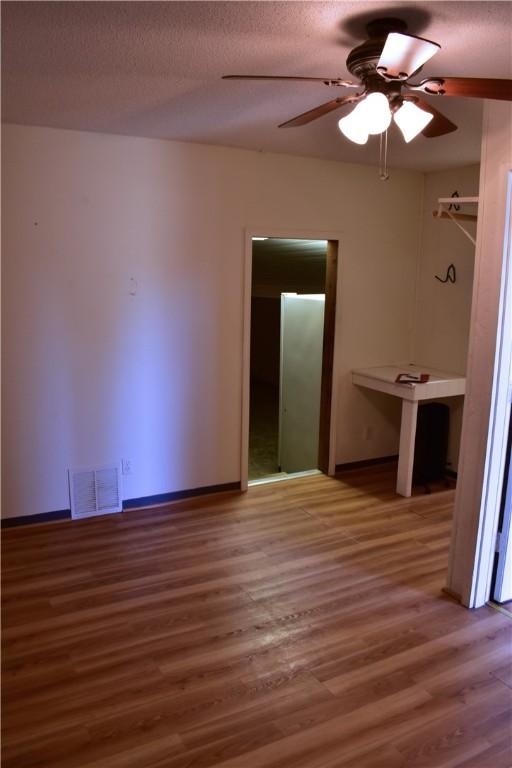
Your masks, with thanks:
M3 534L3 768L509 768L511 622L393 466Z

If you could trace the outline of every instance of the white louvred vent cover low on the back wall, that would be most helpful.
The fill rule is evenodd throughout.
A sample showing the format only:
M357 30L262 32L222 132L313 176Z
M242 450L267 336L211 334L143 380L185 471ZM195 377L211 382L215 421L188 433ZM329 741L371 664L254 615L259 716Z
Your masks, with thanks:
M121 468L70 469L71 517L93 517L121 512Z

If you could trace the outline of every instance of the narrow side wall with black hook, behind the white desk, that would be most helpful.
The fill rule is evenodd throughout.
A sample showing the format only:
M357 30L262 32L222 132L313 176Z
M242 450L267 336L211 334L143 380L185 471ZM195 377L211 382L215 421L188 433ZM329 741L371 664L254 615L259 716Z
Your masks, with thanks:
M460 197L477 197L479 175L479 165L425 175L413 359L419 365L461 374L466 373L475 246L451 220L435 219L432 212L439 197L450 197L455 191ZM477 213L476 206L461 210ZM463 224L475 237L476 224ZM452 263L456 282L436 280L435 275L446 276ZM443 402L450 408L448 461L457 471L464 398Z

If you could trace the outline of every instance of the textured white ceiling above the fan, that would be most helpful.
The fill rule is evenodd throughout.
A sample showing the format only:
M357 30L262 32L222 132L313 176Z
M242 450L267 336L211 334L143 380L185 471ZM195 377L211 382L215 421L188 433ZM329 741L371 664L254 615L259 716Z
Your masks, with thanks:
M278 123L344 91L322 83L221 80L224 74L349 77L348 52L372 18L399 16L440 43L425 75L511 77L510 2L2 2L3 119L376 164L334 112ZM346 91L345 91L346 92ZM482 102L434 99L459 130L406 145L391 167L479 161Z

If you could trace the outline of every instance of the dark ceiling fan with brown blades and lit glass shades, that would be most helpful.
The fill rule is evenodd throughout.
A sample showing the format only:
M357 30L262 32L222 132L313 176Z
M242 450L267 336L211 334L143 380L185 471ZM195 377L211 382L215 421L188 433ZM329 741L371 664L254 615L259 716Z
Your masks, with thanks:
M224 75L223 79L317 81L329 87L362 89L331 99L279 125L279 128L306 125L322 115L355 104L355 109L338 125L342 133L357 144L366 144L370 134L387 131L392 118L406 142L419 133L433 138L457 130L451 120L418 94L512 101L512 80L427 77L411 82L410 78L418 75L441 46L406 34L407 24L401 19L375 19L366 25L366 29L368 39L347 57L347 69L359 82L339 77L279 75Z

